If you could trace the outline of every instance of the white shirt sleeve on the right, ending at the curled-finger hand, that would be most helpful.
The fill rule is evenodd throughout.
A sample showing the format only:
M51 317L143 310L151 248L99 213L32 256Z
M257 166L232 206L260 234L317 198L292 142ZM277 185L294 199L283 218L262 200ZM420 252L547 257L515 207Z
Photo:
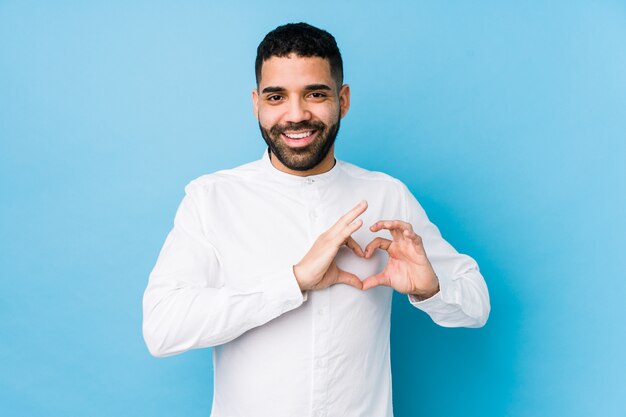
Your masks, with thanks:
M422 301L409 295L409 301L440 326L484 326L490 312L489 292L478 265L443 239L415 197L404 188L407 217L422 237L440 287L440 291L429 299Z

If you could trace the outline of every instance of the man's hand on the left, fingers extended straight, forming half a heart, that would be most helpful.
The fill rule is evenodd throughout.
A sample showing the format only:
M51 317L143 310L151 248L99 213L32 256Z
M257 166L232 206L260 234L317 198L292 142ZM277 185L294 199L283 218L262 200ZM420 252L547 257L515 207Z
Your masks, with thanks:
M321 290L333 284L348 284L361 289L361 280L354 274L340 269L335 263L339 248L346 245L359 257L363 250L352 238L363 220L356 220L367 209L367 202L361 201L344 214L330 229L322 233L304 258L293 267L294 275L302 291ZM355 221L356 220L356 221Z

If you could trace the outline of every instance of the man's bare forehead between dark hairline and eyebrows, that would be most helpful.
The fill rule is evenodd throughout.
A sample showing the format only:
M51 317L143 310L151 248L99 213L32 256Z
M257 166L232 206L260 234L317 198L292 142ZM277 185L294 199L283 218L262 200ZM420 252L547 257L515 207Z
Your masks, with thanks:
M268 86L297 89L311 84L334 87L328 59L294 54L288 57L273 56L264 61L261 67L260 90Z

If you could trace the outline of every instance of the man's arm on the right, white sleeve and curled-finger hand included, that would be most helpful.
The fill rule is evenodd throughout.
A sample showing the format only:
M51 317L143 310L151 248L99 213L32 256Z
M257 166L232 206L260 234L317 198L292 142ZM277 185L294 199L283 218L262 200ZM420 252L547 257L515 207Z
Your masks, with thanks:
M365 249L387 251L385 269L363 281L363 289L378 285L407 294L415 307L445 327L482 327L489 317L489 293L476 262L459 254L439 233L409 190L402 186L405 218L380 220L370 230L389 230L392 240L375 238Z

